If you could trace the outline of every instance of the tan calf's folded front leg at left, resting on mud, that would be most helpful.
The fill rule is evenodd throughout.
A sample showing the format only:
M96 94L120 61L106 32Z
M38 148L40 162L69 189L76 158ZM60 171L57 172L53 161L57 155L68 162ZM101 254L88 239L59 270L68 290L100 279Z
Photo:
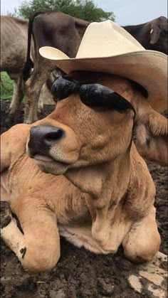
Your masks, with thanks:
M2 237L7 245L11 243L9 246L14 249L21 265L30 272L51 270L60 257L56 213L51 208L43 199L31 196L19 196L11 202L11 210L19 218L23 237L16 233L14 226L11 233L9 230L8 233L4 230Z

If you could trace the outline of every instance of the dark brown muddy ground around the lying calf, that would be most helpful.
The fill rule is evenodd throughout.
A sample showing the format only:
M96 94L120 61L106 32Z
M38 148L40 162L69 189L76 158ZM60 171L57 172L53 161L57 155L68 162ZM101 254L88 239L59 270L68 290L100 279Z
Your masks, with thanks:
M1 132L23 121L23 105L14 122L6 123L9 102L1 102ZM53 106L45 106L45 117ZM162 238L160 251L167 254L167 169L148 164L157 188L155 207ZM166 266L166 264L164 264ZM144 290L135 292L127 276L136 266L125 260L122 248L116 255L95 255L84 248L78 249L61 238L61 259L51 272L29 275L24 272L14 253L1 241L1 297L5 298L138 298L152 297Z

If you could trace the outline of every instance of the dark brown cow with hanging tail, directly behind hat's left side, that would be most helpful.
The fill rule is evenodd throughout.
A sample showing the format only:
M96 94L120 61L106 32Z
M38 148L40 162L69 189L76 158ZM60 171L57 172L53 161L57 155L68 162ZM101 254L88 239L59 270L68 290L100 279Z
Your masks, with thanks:
M36 11L32 14L28 23L28 53L25 68L23 69L23 77L26 80L25 123L32 123L38 119L37 102L39 93L43 83L46 82L54 70L53 65L39 55L39 48L41 46L55 46L70 57L75 57L89 23L58 11ZM33 73L30 75L31 36L33 36L35 45L35 60ZM29 75L30 78L28 78Z

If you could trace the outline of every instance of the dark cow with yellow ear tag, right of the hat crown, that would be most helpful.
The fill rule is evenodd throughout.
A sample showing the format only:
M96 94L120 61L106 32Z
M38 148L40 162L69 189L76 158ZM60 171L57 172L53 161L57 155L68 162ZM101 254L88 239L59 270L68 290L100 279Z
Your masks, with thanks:
M147 50L168 53L167 18L165 16L159 16L159 18L140 25L123 26L122 28L127 30Z

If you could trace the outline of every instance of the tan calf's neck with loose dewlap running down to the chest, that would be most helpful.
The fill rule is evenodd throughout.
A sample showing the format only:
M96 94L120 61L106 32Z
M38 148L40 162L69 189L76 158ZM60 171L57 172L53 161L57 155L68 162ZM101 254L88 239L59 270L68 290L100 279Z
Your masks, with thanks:
M83 193L93 220L92 234L102 240L107 225L115 216L115 211L125 197L130 182L130 153L120 159L105 164L82 169L71 169L65 176ZM110 218L107 214L110 209Z

